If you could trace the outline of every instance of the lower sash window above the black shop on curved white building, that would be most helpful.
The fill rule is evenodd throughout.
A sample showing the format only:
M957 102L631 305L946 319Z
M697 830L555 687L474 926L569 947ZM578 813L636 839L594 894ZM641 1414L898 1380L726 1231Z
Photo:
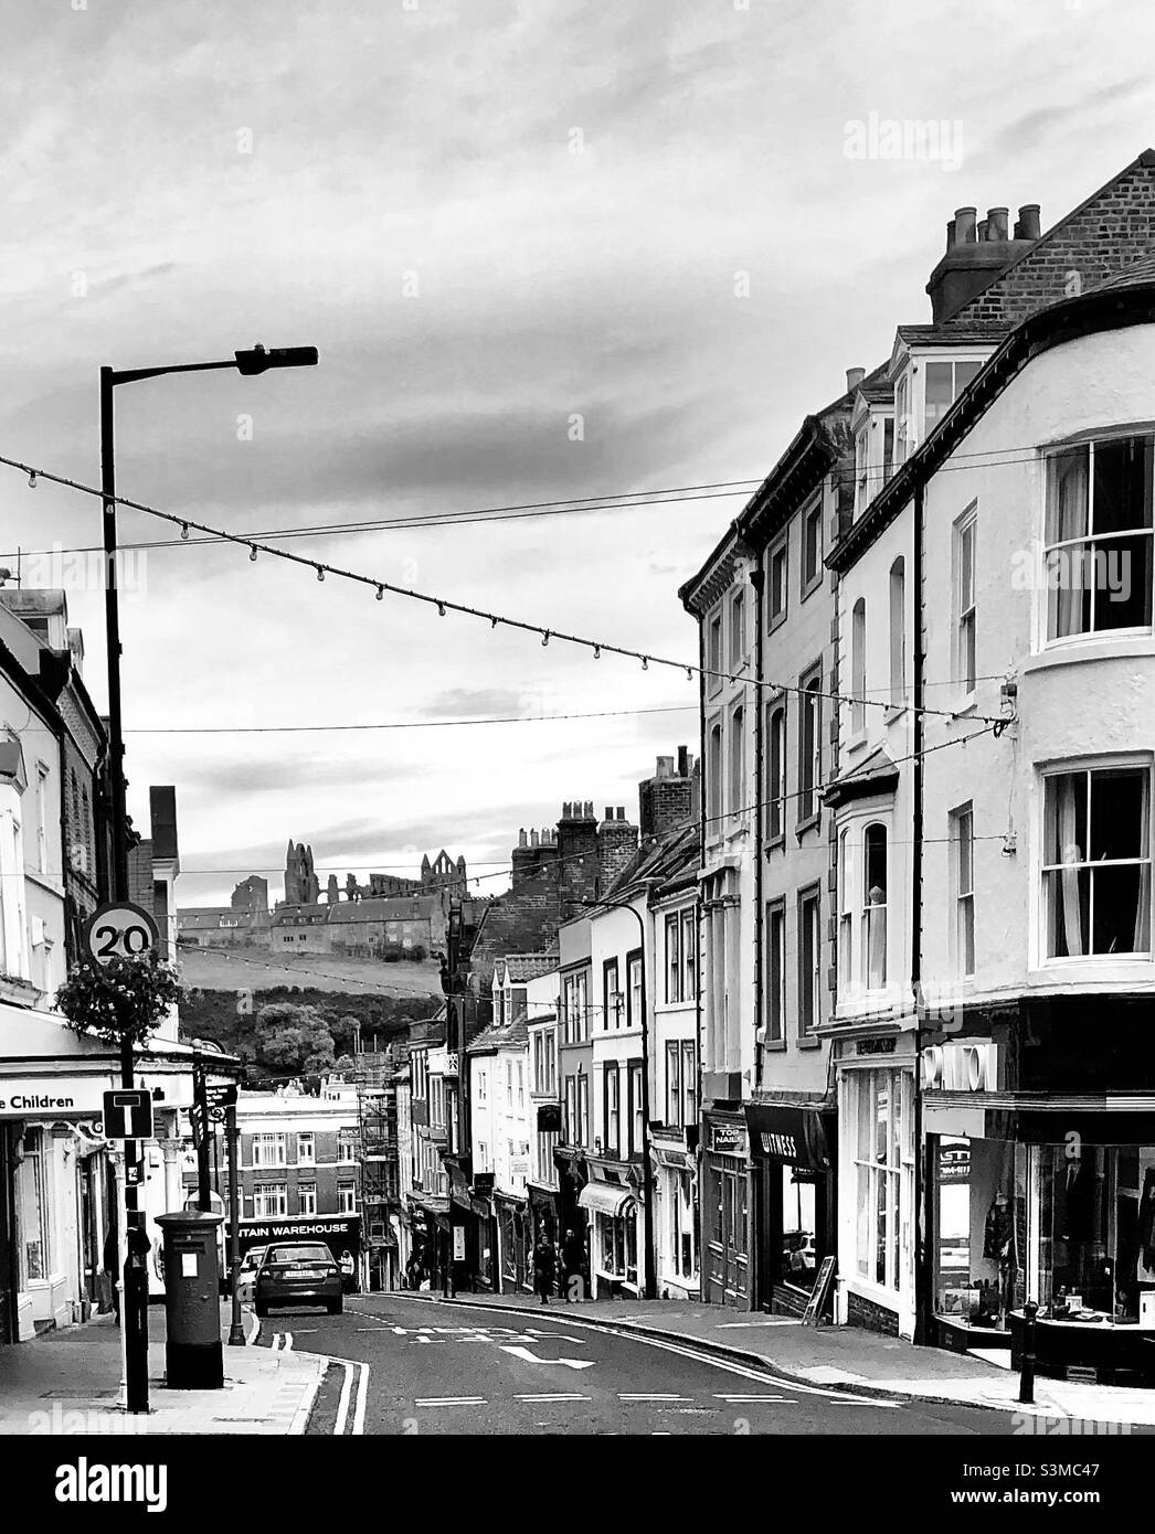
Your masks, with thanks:
M1045 956L1150 953L1150 767L1043 781Z

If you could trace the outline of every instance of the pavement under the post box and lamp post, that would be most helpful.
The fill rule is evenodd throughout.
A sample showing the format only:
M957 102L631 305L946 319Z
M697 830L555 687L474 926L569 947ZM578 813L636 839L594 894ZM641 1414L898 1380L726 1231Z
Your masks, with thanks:
M248 1313L245 1330L256 1341ZM0 1347L0 1434L302 1434L327 1361L229 1347L221 1307L222 1390L169 1390L164 1384L164 1307L149 1307L149 1414L121 1408L120 1330L112 1316Z

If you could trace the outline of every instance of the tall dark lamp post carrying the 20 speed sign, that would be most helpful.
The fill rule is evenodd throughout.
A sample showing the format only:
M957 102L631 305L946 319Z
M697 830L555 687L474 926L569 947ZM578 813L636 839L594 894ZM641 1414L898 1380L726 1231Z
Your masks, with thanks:
M120 384L163 377L166 373L210 373L236 368L252 376L270 368L314 367L316 347L279 347L265 351L256 345L235 351L230 362L184 362L160 368L100 370L100 488L104 511L104 637L109 664L109 775L112 778L112 879L114 900L129 899L127 804L124 784L124 727L120 695L120 591L117 588L117 472L112 391ZM126 1035L120 1049L121 1086L133 1086L132 1040ZM149 1410L149 1275L144 1266L141 1238L144 1220L140 1209L143 1163L135 1140L124 1141L124 1239L127 1256L123 1279L124 1325L124 1388L126 1407L132 1413Z

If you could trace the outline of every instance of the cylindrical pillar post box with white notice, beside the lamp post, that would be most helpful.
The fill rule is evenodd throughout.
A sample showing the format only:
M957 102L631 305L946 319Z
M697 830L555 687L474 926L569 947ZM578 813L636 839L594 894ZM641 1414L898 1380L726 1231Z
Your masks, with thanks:
M216 1252L222 1218L183 1209L156 1220L164 1232L164 1353L173 1390L219 1390L224 1385Z

